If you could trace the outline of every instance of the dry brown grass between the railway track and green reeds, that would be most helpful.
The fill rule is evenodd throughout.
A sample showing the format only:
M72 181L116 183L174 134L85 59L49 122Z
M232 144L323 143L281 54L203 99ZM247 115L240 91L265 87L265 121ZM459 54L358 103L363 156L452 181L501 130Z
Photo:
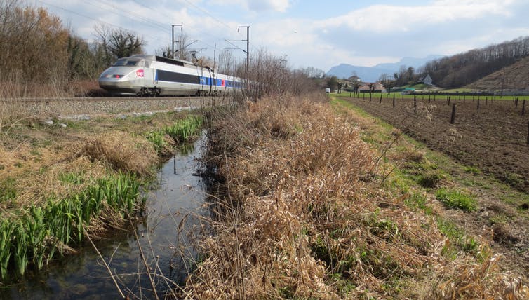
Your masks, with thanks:
M119 123L100 118L62 128L0 114L0 211L6 217L50 197L67 198L109 174L151 175L159 158L145 133L175 120L163 114Z

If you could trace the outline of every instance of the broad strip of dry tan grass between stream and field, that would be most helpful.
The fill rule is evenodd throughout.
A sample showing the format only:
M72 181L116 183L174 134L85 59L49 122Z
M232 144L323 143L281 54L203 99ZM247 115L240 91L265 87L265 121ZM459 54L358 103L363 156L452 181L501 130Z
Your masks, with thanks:
M213 123L221 196L215 236L187 282L194 298L528 295L494 268L485 240L481 257L443 255L449 242L434 217L380 190L370 173L377 154L326 104L268 99Z

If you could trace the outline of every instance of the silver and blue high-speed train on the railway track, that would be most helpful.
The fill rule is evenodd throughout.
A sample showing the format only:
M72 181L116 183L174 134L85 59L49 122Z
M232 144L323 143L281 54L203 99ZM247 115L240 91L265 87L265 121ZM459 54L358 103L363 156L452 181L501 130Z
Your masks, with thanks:
M98 81L113 96L219 96L236 93L243 87L243 80L238 77L158 55L121 57L102 72Z

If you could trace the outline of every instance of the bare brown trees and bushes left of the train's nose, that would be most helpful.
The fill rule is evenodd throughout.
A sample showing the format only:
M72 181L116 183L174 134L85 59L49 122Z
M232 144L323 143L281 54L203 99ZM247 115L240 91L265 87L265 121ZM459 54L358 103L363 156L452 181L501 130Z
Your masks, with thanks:
M72 81L96 79L118 57L142 53L145 45L125 29L95 27L95 36L92 43L81 39L46 8L0 0L0 82L12 94L36 86L66 91Z

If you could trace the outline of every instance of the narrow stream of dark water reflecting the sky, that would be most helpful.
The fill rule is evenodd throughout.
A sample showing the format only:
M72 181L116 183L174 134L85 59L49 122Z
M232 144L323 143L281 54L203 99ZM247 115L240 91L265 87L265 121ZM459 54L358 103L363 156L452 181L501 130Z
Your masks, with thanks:
M116 284L129 299L155 299L153 286L163 299L182 285L197 257L189 239L201 229L200 216L208 214L204 182L195 173L205 143L203 135L187 154L163 163L158 189L146 194L147 217L135 231L94 241L116 283L87 242L77 254L28 270L20 282L0 289L0 299L122 299Z

